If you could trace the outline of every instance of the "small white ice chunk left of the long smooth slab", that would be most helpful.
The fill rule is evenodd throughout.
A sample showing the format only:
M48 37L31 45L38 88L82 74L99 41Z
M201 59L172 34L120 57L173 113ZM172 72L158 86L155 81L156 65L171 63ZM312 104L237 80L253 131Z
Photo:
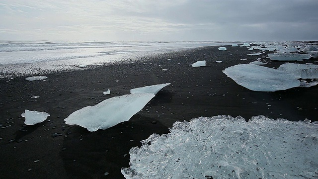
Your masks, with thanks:
M46 112L30 111L25 109L21 116L25 118L24 124L34 125L45 121L45 119L50 116L50 114Z

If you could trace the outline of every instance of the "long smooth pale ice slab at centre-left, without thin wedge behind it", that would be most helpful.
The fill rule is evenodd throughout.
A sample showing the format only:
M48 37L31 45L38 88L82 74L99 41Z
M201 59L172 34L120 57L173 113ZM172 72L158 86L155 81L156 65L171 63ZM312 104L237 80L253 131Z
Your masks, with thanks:
M86 106L73 112L65 120L66 124L76 124L88 131L107 129L128 121L153 97L152 93L126 94L105 99L94 106Z

